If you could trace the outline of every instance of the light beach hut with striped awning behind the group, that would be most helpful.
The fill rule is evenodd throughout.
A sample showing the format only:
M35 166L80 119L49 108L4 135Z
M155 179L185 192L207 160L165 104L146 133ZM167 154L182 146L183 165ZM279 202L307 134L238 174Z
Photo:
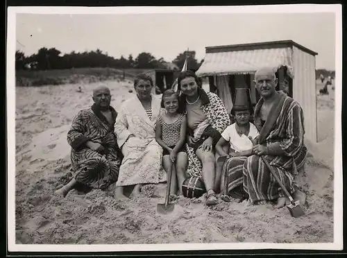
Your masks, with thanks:
M305 137L317 142L316 55L318 53L292 40L258 42L228 46L207 46L205 58L196 71L208 79L210 90L217 92L230 112L236 87L248 87L253 105L259 100L253 80L260 67L274 67L279 83L303 108Z

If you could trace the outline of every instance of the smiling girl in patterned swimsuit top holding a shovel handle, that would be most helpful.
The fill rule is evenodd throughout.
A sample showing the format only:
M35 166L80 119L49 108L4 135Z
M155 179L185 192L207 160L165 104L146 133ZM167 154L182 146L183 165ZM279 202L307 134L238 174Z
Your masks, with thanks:
M162 146L162 166L165 171L169 172L172 166L172 180L170 197L176 198L182 196L182 184L186 178L188 157L185 151L185 132L187 127L187 119L182 112L181 104L178 101L178 94L167 89L162 94L161 106L165 112L158 117L157 127L155 129L155 139ZM177 178L176 178L177 177Z

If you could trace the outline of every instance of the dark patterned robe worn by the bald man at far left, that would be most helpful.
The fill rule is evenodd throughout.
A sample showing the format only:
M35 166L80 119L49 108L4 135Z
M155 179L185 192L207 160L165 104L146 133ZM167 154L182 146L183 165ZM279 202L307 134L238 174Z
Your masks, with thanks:
M113 107L110 110L113 118L111 124L95 104L90 109L81 110L67 132L74 178L94 189L105 189L116 182L121 164L121 152L114 130L117 112ZM105 153L87 148L87 141L101 144Z

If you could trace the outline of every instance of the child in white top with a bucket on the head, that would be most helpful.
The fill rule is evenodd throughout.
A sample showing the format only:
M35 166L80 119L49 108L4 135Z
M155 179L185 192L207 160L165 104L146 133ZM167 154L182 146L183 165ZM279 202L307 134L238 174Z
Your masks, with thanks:
M239 95L239 98L242 98L242 90L236 89L236 96ZM235 99L239 100L239 98ZM242 194L242 169L238 169L238 167L242 167L247 157L254 154L252 141L248 137L255 139L259 136L259 132L255 125L250 122L251 115L253 115L252 103L246 98L239 102L235 103L231 110L232 116L236 120L235 123L232 123L222 132L221 139L217 142L217 153L220 156L227 156L227 160L224 164L217 162L216 171L217 184L221 182L221 175L227 173L230 181L228 186L233 189L231 196L242 200L244 198ZM237 189L241 190L237 191ZM224 190L223 184L221 184L221 191Z

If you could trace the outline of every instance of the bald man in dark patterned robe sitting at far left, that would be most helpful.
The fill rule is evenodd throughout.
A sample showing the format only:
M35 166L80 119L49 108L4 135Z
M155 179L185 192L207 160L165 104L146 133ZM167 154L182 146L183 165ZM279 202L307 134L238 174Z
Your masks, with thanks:
M118 178L122 154L115 135L117 112L110 106L110 89L94 89L93 101L92 107L78 112L67 132L74 178L56 191L63 197L77 182L105 189Z

